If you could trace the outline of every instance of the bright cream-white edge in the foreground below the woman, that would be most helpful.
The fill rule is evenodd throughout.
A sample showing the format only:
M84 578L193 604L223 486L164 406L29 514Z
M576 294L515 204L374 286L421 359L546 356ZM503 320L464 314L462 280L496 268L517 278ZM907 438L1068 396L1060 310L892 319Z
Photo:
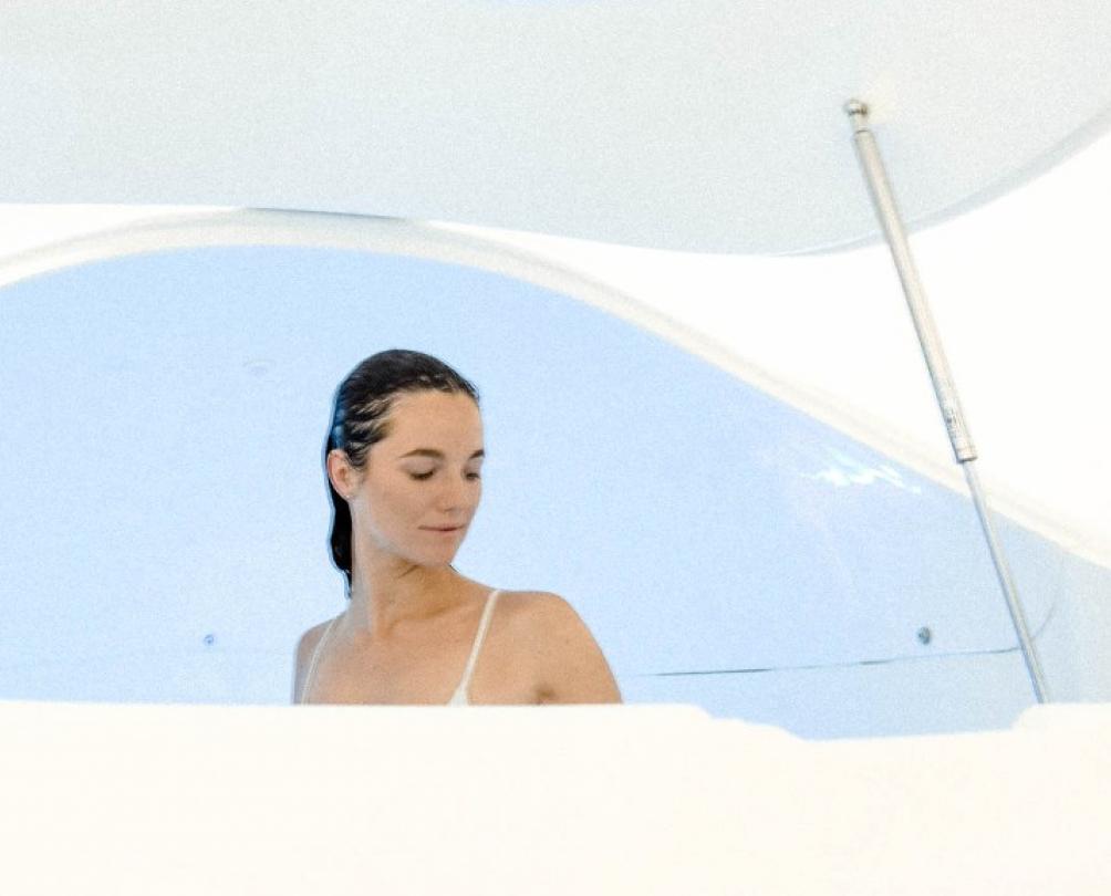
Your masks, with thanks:
M0 702L26 894L1105 894L1111 704L801 741L692 706Z

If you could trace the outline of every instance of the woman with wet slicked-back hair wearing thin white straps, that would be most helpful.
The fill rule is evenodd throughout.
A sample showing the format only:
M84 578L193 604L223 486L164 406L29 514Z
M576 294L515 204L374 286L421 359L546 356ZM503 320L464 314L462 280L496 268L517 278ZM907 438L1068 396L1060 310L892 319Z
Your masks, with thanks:
M620 703L561 597L491 590L451 565L482 492L474 386L391 350L341 383L324 449L349 604L297 648L294 703Z

